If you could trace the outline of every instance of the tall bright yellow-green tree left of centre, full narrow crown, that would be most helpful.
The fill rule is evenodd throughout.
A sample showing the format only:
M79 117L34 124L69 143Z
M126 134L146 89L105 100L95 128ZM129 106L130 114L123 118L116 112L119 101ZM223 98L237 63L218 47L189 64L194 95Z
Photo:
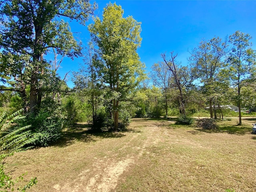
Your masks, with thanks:
M89 26L104 63L101 72L109 87L115 130L118 128L119 102L126 100L138 83L138 76L143 73L143 64L136 52L141 42L140 23L132 16L123 18L123 14L121 6L110 3L104 8L102 21L96 17L94 24Z

